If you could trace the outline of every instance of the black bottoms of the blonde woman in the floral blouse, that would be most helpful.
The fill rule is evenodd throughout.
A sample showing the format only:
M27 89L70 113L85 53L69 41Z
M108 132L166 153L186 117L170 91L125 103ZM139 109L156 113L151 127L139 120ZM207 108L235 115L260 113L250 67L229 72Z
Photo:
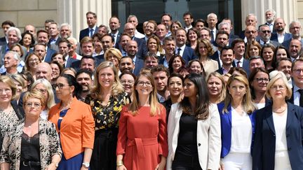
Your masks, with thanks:
M95 131L93 154L90 159L91 170L116 170L117 136L117 128Z

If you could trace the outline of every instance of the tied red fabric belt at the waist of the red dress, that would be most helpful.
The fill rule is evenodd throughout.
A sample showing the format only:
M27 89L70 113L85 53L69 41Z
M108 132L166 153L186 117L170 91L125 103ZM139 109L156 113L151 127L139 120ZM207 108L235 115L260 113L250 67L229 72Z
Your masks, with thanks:
M145 157L144 147L158 144L158 138L135 138L135 139L128 139L127 146L136 146L137 148L137 155L141 158Z

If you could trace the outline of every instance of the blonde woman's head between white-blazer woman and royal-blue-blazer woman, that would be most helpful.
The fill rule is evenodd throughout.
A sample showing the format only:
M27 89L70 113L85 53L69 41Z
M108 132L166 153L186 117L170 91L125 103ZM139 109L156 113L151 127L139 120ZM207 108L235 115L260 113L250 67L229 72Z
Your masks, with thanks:
M208 85L208 93L210 95L210 103L219 104L225 99L225 81L220 73L213 72L206 77Z

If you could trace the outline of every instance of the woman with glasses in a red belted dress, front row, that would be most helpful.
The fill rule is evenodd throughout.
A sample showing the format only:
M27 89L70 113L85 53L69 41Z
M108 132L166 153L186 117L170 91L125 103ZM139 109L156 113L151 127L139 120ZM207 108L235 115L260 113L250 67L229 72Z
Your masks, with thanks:
M163 170L168 155L166 109L156 97L154 78L141 72L135 80L133 102L119 120L117 169Z

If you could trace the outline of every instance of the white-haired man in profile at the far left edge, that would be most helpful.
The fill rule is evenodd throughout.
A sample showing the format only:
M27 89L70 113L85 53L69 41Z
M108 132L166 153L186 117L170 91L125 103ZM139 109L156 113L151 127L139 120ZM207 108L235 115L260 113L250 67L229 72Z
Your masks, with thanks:
M4 68L6 71L1 73L1 75L12 75L18 73L18 65L20 62L20 56L17 52L8 51L4 55ZM22 71L22 70L21 70Z

